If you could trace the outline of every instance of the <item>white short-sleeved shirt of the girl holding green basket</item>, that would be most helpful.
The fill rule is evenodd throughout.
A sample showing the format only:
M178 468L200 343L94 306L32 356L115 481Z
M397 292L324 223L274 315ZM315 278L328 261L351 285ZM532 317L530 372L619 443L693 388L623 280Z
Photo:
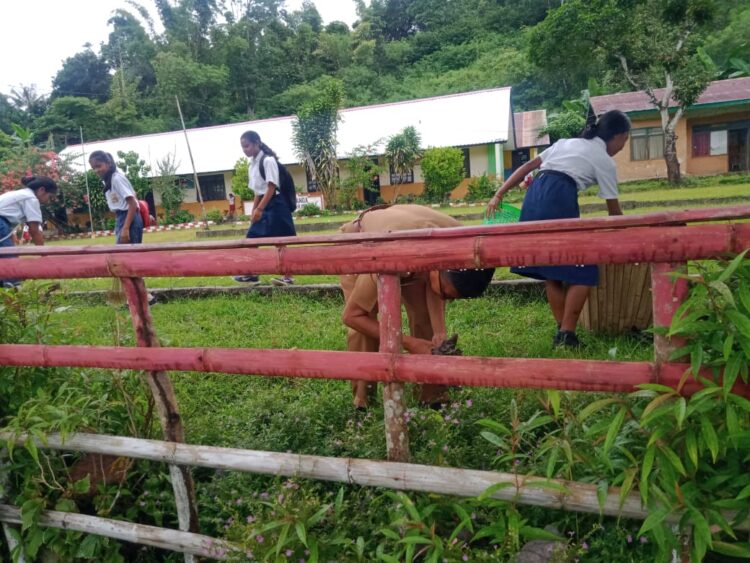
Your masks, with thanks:
M543 151L539 170L564 172L576 183L578 191L599 184L599 197L617 199L617 166L607 154L607 143L593 139L560 139Z

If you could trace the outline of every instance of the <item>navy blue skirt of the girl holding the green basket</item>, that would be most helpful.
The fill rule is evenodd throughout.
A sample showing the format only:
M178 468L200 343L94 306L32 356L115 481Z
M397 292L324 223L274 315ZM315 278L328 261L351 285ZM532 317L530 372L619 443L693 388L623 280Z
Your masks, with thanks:
M531 183L521 208L521 221L572 219L581 216L575 180L562 172L542 171ZM571 285L598 285L598 266L515 266L514 274Z

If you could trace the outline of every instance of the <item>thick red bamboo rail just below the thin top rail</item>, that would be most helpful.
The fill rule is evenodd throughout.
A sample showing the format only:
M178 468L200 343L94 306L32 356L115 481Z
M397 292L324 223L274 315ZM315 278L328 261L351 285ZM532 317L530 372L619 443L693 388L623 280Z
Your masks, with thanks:
M21 279L91 277L219 276L287 272L361 274L421 272L447 268L555 264L674 262L728 256L750 248L750 224L691 227L634 227L627 232L561 232L504 237L453 237L279 248L241 252L134 250L0 260L0 275Z

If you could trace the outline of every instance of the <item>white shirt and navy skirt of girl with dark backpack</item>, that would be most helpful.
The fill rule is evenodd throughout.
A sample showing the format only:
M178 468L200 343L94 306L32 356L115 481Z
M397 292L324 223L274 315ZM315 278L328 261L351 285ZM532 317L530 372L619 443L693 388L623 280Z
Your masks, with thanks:
M263 197L268 191L269 182L276 186L276 193L263 209L260 221L255 221L250 225L247 231L247 238L262 237L286 237L295 236L297 231L294 228L292 212L289 211L284 198L279 193L279 165L276 159L271 156L263 158L261 150L253 158L248 174L248 185L256 196ZM263 171L266 179L263 179L260 173L260 162L263 161Z

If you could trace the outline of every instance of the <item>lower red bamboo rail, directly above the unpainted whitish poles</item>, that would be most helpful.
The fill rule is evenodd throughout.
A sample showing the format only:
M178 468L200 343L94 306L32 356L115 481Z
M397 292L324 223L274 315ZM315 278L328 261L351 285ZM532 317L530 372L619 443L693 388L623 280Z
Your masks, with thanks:
M395 361L380 352L261 350L246 348L125 348L0 344L0 365L61 366L153 371L196 371L242 375L360 381L401 381L474 387L513 387L629 393L644 383L676 387L687 364L612 362L475 356L412 356ZM712 377L706 373L707 377ZM691 395L702 385L688 378ZM750 397L741 381L734 392Z

